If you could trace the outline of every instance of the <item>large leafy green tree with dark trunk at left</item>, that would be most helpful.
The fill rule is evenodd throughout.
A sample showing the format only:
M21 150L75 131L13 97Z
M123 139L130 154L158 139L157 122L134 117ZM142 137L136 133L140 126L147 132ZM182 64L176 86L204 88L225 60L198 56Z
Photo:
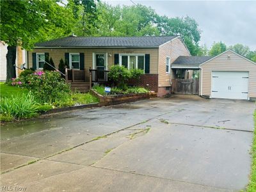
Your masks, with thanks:
M17 45L31 49L35 42L49 40L70 33L68 13L58 0L0 1L1 40L8 44L6 81L15 77ZM70 22L68 22L70 23Z

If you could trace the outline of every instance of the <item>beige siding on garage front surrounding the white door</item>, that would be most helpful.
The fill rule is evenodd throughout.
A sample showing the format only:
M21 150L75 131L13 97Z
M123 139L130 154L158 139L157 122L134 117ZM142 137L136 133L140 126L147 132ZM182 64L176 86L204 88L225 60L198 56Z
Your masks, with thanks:
M230 56L230 59L228 59ZM227 51L211 61L201 65L202 95L211 95L212 71L245 71L249 72L248 97L256 97L256 65L245 58ZM201 91L199 92L201 94Z

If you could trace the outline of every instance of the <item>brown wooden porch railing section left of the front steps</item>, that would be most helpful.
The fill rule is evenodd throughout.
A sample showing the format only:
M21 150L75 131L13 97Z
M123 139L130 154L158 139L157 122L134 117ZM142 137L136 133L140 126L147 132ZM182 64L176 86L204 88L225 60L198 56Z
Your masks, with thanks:
M86 71L66 68L65 79L67 82L85 82Z

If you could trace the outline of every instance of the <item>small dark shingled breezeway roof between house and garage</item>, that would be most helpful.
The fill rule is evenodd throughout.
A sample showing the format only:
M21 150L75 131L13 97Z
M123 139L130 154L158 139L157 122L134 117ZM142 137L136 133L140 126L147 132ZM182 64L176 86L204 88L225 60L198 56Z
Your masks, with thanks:
M178 67L199 67L200 64L213 58L212 56L179 56L172 63L172 68Z

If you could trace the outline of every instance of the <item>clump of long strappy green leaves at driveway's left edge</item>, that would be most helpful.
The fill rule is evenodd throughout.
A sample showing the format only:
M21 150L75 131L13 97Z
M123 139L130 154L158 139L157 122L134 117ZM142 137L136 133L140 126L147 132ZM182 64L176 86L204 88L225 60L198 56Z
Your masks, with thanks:
M38 103L31 92L2 97L0 101L1 120L31 118L38 115Z

